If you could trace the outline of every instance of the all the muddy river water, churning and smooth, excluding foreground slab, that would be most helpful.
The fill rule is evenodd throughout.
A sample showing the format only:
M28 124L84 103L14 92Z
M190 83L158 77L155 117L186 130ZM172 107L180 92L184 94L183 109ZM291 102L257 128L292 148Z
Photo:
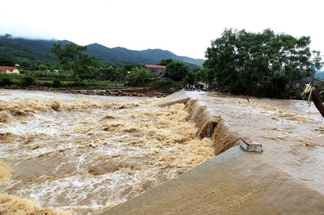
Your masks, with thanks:
M12 174L0 192L42 207L96 214L177 178L241 137L263 144L261 156L250 155L253 162L276 166L324 194L324 122L305 101L248 102L184 91L155 100L2 89L0 100L0 162ZM211 118L218 124L211 139L203 138Z

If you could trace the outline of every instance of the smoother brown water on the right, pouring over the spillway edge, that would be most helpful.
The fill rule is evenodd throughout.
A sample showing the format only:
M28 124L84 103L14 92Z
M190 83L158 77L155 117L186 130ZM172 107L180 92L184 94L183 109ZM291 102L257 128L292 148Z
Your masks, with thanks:
M241 137L263 145L251 162L275 165L324 195L324 120L314 104L302 100L257 99L220 93L179 92L158 101L197 99L210 116L221 116L213 136L215 154ZM197 109L196 107L196 109ZM247 166L248 168L248 166Z

